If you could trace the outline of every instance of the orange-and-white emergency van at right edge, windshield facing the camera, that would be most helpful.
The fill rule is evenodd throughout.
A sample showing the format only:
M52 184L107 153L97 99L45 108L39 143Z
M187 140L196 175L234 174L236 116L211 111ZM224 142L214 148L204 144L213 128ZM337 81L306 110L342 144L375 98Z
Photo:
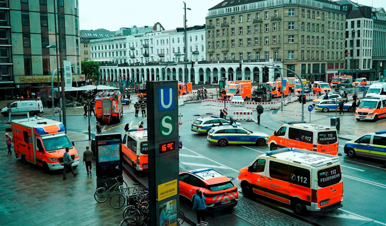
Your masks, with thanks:
M386 98L375 96L364 98L355 111L355 118L357 121L378 121L379 118L384 117L386 117Z

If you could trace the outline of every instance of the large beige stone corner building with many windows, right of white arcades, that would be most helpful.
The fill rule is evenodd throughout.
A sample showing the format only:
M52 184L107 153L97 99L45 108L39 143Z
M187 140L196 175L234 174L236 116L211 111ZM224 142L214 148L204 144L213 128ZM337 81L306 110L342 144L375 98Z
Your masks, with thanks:
M344 66L344 23L345 13L333 1L224 0L206 18L206 59L273 59L303 78L326 81Z

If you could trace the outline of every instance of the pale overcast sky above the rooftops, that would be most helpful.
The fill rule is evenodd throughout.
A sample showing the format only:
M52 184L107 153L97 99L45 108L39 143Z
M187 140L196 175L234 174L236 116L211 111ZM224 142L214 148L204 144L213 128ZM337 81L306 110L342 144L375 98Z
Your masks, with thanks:
M187 25L203 25L208 8L221 0L186 0ZM363 5L386 8L386 0L354 0ZM120 27L152 26L160 22L165 29L183 27L181 0L79 0L81 30L104 28L115 31Z

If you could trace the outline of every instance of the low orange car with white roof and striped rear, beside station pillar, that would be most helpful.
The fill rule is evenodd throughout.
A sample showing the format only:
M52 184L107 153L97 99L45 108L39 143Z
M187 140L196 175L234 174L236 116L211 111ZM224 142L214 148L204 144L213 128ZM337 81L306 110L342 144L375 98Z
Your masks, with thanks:
M212 168L179 173L180 196L193 202L197 189L205 196L205 204L210 209L232 209L239 199L239 192L232 181Z

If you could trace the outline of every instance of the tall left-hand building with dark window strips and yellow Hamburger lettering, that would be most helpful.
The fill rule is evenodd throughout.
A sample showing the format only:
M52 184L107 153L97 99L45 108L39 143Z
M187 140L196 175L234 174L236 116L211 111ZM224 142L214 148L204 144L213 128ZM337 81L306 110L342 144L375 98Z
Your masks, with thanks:
M42 99L47 98L47 90L51 88L51 74L57 67L57 61L56 50L46 47L59 46L56 44L55 27L63 32L63 41L60 43L64 51L63 59L71 61L73 74L80 74L78 0L61 0L60 5L56 6L56 10L62 13L59 26L54 23L57 17L54 3L56 1L0 2L0 33L3 35L0 84L1 88L5 88L0 98L17 95L34 98L36 96L33 93L41 93ZM78 77L80 79L81 76Z

